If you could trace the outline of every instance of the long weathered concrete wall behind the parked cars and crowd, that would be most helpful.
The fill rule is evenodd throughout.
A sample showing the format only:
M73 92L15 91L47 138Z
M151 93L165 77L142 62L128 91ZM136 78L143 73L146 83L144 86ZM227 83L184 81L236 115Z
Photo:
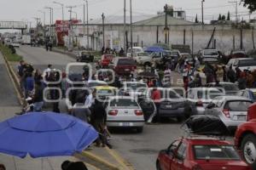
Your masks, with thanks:
M200 48L206 48L207 43L210 40L212 31L216 27L214 39L216 39L216 48L220 51L230 51L233 48L233 37L235 37L235 48L240 48L240 29L233 28L230 25L191 25L191 26L169 26L170 44L183 44L183 31L186 31L185 42L192 47L192 31L194 32L194 52L197 52ZM93 31L102 31L102 26L91 26L90 34ZM122 25L110 25L105 26L105 44L109 48L123 47L124 44L124 27ZM165 42L164 26L159 26L159 42ZM130 41L130 27L127 26L128 41ZM139 46L147 47L153 45L156 42L157 26L133 26L133 42L138 42ZM256 41L256 31L254 32L254 39ZM82 32L81 32L82 33ZM246 50L253 48L252 30L244 29L243 33L243 48ZM92 40L95 39L95 40ZM95 41L94 49L102 48L102 36L92 37L90 41ZM113 44L113 42L115 44ZM119 45L116 44L119 42ZM91 45L92 43L90 43ZM96 47L99 46L99 47ZM118 48L119 47L119 48ZM212 44L211 46L212 47ZM90 47L91 48L91 47Z

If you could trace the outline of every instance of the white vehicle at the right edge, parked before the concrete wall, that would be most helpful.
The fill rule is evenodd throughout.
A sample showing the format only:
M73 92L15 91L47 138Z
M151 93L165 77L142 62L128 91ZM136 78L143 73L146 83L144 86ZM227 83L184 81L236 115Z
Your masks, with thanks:
M232 69L235 70L238 67L241 71L248 70L254 71L256 70L256 59L252 58L237 58L230 59L229 63L226 65L226 69L229 69L232 66Z

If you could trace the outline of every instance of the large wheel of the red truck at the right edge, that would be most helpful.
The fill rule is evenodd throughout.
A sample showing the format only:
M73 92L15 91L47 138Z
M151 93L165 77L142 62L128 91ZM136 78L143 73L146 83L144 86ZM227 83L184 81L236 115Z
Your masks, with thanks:
M247 134L241 141L241 153L245 161L256 169L256 136Z

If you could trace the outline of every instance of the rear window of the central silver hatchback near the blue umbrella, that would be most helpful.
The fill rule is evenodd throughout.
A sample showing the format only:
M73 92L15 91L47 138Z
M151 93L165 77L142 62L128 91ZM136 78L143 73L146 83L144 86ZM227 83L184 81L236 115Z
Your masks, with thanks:
M137 102L133 99L113 99L110 101L110 106L139 108Z

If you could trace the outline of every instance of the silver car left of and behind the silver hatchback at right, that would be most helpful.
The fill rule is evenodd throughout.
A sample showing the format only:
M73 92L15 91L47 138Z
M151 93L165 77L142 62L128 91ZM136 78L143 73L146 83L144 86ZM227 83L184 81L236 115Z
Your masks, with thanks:
M193 115L202 115L207 105L217 96L223 96L217 88L189 88L187 99Z

